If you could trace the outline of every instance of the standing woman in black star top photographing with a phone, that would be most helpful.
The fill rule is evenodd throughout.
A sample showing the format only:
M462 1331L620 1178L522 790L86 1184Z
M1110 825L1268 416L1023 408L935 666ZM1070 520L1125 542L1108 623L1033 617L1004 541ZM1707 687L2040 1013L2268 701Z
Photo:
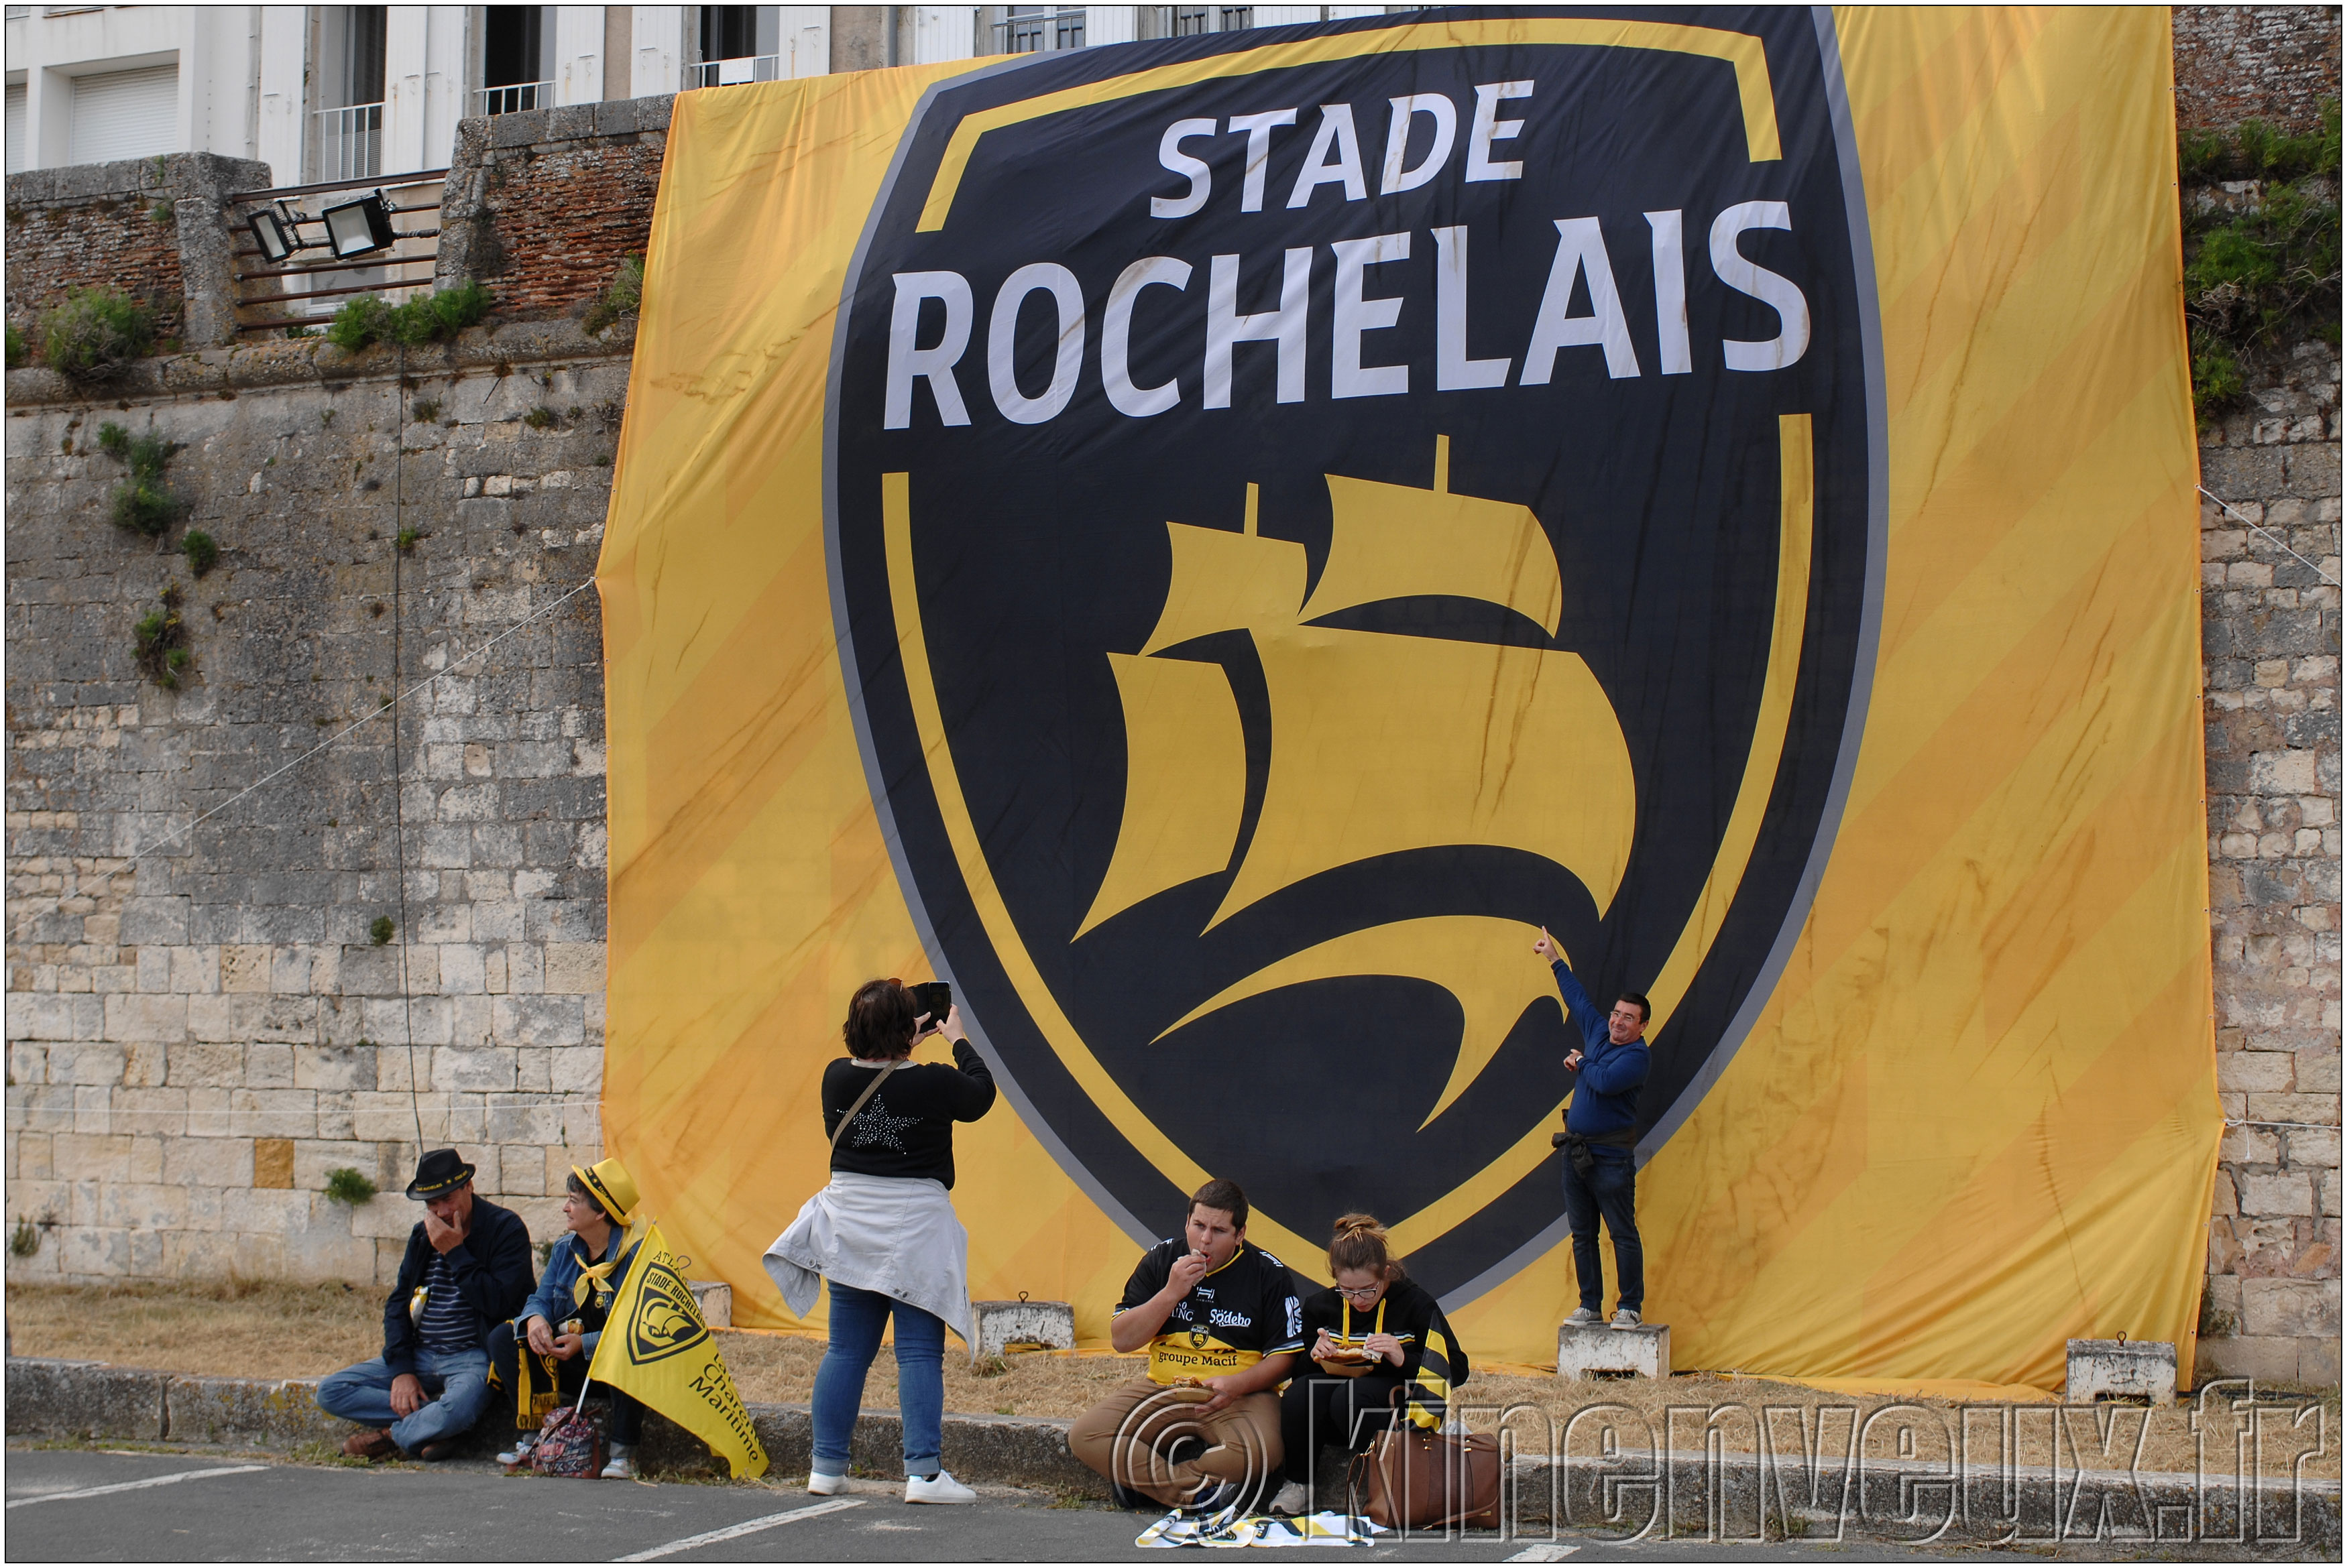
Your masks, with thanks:
M953 1124L995 1103L995 1080L951 1007L943 1035L953 1066L913 1063L913 1045L939 1033L913 993L875 979L847 1002L847 1056L824 1068L824 1136L831 1185L807 1199L767 1249L791 1312L814 1307L831 1282L831 1345L814 1373L814 1467L807 1491L847 1483L847 1439L864 1404L864 1373L880 1331L897 1319L897 1411L904 1418L904 1500L974 1502L939 1467L946 1413L946 1329L969 1340L969 1232L946 1197L953 1188Z

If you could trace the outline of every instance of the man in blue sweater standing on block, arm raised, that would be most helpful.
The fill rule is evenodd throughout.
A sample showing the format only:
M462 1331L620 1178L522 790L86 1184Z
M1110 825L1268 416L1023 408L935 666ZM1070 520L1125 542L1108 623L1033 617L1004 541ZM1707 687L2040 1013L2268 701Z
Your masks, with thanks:
M1645 1249L1638 1246L1638 1167L1631 1148L1638 1141L1638 1087L1645 1082L1645 1021L1652 1014L1645 998L1624 991L1610 1012L1598 1012L1547 927L1533 951L1556 974L1565 1012L1582 1030L1584 1047L1565 1054L1565 1068L1580 1080L1572 1106L1565 1108L1565 1221L1572 1225L1572 1277L1582 1286L1582 1305L1568 1324L1603 1322L1598 1312L1603 1277L1598 1275L1598 1216L1615 1239L1615 1329L1636 1329L1645 1307Z

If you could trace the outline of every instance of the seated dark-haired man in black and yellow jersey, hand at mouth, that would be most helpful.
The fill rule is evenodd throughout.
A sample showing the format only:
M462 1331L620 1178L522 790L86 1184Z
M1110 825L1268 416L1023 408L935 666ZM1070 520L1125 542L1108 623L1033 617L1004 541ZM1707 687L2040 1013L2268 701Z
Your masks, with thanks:
M1289 1265L1249 1244L1246 1192L1209 1181L1183 1235L1143 1253L1110 1319L1122 1354L1150 1371L1075 1418L1068 1448L1124 1493L1223 1509L1279 1467L1274 1387L1305 1347Z

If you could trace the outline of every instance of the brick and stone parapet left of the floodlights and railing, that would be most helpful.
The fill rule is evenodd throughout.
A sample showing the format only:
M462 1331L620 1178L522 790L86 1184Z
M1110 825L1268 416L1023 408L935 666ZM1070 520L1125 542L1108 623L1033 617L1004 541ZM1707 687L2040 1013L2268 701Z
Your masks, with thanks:
M7 176L7 319L38 345L42 310L108 284L155 307L155 338L230 340L221 197L270 183L268 164L211 153Z

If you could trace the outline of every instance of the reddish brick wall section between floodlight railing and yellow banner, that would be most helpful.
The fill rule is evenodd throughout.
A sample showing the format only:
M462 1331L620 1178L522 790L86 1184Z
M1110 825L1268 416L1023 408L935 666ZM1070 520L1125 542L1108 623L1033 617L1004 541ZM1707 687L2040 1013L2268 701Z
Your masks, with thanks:
M674 99L467 120L448 160L441 289L476 277L502 317L577 315L643 256Z

